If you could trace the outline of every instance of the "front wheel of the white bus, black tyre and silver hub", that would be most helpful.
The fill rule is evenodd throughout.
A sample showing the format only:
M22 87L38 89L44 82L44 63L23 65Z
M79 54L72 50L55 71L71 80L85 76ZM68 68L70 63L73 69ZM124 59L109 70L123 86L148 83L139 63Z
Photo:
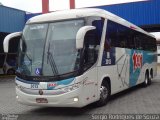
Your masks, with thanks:
M100 87L100 99L97 101L97 106L101 107L107 104L110 97L110 89L107 82L103 82Z

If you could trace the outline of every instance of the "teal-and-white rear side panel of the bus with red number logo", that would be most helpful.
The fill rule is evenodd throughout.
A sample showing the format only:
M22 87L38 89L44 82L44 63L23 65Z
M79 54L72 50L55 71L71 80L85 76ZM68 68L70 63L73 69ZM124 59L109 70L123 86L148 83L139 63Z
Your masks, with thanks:
M156 71L156 56L154 52L135 49L126 49L126 51L130 55L130 87L144 82L146 70L149 70L150 73L151 69L153 69L154 77Z

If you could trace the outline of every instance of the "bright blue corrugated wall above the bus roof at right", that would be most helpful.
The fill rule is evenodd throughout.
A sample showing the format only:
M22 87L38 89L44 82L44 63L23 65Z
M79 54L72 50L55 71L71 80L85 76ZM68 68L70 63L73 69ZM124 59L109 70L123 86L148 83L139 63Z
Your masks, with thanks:
M97 6L97 8L108 10L136 25L160 24L160 0Z

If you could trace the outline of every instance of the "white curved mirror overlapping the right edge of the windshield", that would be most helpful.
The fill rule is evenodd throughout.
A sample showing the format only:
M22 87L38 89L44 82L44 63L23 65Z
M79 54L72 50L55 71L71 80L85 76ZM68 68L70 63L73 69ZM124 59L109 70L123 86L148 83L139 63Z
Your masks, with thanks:
M81 27L76 35L76 49L82 49L83 48L83 44L84 44L84 37L86 35L86 33L90 30L94 30L96 29L96 27L94 26L84 26Z

